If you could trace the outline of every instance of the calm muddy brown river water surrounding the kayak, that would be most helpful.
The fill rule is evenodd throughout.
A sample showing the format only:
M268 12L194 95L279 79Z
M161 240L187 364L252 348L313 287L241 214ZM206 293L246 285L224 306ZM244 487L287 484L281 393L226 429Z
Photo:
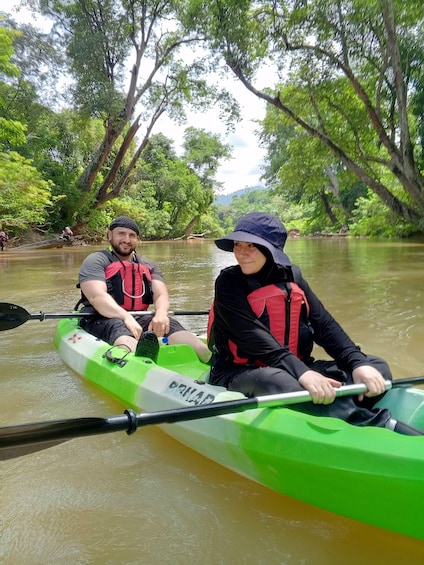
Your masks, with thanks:
M215 277L233 263L210 241L141 248L161 265L180 310L208 309ZM71 311L79 265L94 249L0 253L0 301L30 313ZM386 358L395 378L424 374L424 242L300 239L286 249L366 352ZM205 316L180 320L205 332ZM62 363L55 324L33 320L0 334L0 426L125 408ZM358 562L421 565L424 542L276 494L155 426L0 463L2 565Z

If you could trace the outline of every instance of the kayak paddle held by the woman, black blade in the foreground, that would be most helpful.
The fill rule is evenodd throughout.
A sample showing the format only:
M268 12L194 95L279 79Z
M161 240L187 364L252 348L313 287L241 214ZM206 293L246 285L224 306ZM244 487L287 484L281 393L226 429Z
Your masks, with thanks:
M392 383L386 381L386 390L389 390L391 386ZM367 392L367 387L363 384L346 385L336 389L336 396L349 396L365 392ZM172 424L221 414L244 412L255 408L289 406L290 404L311 400L311 395L305 390L143 414L136 414L133 410L125 410L124 414L108 418L73 418L7 426L0 428L0 461L41 451L76 437L117 431L132 434L138 428L152 424Z

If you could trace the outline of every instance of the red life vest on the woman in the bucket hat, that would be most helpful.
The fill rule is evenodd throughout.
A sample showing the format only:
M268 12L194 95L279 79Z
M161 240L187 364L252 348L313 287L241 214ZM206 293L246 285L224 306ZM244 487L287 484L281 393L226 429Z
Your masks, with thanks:
M300 286L294 282L263 286L248 294L247 300L254 314L268 326L281 345L287 346L296 357L302 358L299 354L300 326L309 314L309 304ZM213 307L208 320L208 342L212 325ZM237 345L233 341L228 340L228 348L234 363L251 363L249 359L238 355ZM263 365L259 361L255 361L255 364Z

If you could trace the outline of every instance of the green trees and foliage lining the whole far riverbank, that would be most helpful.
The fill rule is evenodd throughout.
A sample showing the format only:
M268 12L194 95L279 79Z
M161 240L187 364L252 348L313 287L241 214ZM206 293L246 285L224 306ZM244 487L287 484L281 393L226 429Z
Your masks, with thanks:
M49 204L43 191L33 193L40 224L57 230L87 221L97 235L113 216L128 214L147 239L215 237L244 213L265 210L302 234L347 223L355 235L424 230L418 0L34 4L55 20L55 35L0 28L0 150L10 152L3 186L15 183L14 151L28 185L48 181ZM209 51L199 49L205 38ZM69 109L58 96L51 104L63 55L71 71ZM218 136L188 128L181 158L165 136L148 140L165 111L181 121L189 106L214 101L229 121L237 115L221 84L207 84L221 56L268 102L261 144L269 190L234 198L228 207L212 205L218 166L229 156ZM279 79L259 91L255 80L265 66ZM16 194L11 202L25 207ZM31 225L35 216L28 211Z

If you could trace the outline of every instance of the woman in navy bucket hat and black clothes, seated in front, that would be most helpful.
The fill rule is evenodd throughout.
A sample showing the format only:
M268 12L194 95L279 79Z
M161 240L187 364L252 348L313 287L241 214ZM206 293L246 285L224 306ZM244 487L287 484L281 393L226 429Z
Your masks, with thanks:
M215 241L238 265L215 282L209 323L214 350L210 381L248 397L307 390L311 402L292 408L341 418L358 426L421 435L375 408L392 380L388 364L363 353L311 290L284 253L287 231L274 216L252 212ZM315 360L314 343L333 359ZM365 384L365 395L335 397L343 384Z

